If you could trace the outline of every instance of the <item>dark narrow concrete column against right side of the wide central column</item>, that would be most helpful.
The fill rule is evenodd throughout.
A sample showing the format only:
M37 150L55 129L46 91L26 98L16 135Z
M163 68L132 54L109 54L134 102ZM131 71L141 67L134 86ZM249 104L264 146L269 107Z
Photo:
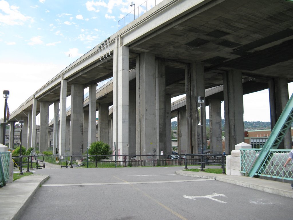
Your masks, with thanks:
M165 61L161 59L156 60L156 130L157 148L155 154L160 154L161 151L166 154L166 71Z

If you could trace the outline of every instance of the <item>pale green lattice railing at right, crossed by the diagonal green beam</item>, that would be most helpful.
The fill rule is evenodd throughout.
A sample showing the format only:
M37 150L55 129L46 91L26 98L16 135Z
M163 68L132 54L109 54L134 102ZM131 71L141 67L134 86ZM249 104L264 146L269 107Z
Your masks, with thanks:
M257 160L261 149L240 149L241 155L241 171L246 175L251 170L254 162ZM288 159L290 150L288 149L270 149L268 155L265 157L260 169L254 173L256 176L271 177L283 180L293 180L293 169L287 165L284 167Z

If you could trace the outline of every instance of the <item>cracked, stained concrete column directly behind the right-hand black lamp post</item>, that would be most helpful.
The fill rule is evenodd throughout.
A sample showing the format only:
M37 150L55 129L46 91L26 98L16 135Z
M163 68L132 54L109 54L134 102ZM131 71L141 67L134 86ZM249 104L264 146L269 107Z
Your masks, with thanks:
M197 108L200 104L197 103L197 97L205 97L205 77L204 77L204 65L201 62L194 62L190 64L190 79L191 79L191 96L190 106L192 111L191 130L192 130L192 145L193 153L201 152L201 129L199 122L199 115ZM205 115L205 103L202 104L203 112L203 148L207 148L207 130L206 130L206 115Z

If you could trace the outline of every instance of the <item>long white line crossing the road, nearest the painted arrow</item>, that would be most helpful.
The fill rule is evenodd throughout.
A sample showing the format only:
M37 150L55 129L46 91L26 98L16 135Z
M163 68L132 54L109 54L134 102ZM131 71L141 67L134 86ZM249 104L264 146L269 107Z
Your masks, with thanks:
M43 184L45 186L92 186L92 185L123 185L123 184L150 184L150 183L168 183L168 182L197 182L211 181L212 179L202 180L163 180L163 181L146 181L146 182L101 182L101 183L64 183L64 184Z

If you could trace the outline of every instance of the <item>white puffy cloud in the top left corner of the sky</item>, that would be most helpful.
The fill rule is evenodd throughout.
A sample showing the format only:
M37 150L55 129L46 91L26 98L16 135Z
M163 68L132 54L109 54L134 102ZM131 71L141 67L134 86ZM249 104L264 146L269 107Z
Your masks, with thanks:
M6 25L23 25L24 22L30 21L33 22L33 18L29 16L24 16L18 11L19 7L9 5L7 1L0 1L0 24L4 23Z

